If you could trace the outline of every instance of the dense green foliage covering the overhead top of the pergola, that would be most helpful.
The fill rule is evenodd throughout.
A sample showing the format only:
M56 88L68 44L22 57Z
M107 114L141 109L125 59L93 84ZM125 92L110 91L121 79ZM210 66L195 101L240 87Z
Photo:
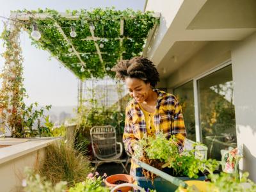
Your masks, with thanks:
M23 10L12 12L12 19L22 22L22 28L29 34L36 24L41 38L31 38L32 44L51 52L81 80L113 77L110 69L119 60L143 54L150 40L148 34L159 22L159 17L152 12L113 8L66 13ZM72 28L76 37L70 36Z

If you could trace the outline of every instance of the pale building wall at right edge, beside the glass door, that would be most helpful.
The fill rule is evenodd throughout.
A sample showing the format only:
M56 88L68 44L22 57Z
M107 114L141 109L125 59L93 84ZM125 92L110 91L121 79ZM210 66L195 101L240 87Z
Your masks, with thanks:
M237 42L231 55L237 144L244 143L240 168L256 182L256 33Z

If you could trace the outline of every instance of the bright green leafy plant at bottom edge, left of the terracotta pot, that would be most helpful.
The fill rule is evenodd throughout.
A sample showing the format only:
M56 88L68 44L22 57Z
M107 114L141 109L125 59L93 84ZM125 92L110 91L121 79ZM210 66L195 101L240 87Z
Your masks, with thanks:
M88 174L92 175L92 173ZM87 177L83 182L79 182L75 184L74 187L70 188L70 192L108 192L110 191L108 188L102 186L103 177L97 177L98 174Z

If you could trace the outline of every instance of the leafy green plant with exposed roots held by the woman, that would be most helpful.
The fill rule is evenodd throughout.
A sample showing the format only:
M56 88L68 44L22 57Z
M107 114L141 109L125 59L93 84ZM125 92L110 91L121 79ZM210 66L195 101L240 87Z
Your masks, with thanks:
M152 166L162 170L166 166L171 168L171 175L173 176L187 176L190 178L198 178L198 173L205 170L213 172L214 168L218 165L217 161L212 159L202 159L196 157L195 153L199 151L184 150L181 154L178 151L175 137L166 139L166 135L163 133L157 134L156 138L152 136L146 136L143 140L138 141L138 147L134 151L134 156L141 161L151 164ZM196 143L195 145L202 145ZM196 146L194 146L196 148ZM154 179L155 175L152 173L143 173L146 177Z

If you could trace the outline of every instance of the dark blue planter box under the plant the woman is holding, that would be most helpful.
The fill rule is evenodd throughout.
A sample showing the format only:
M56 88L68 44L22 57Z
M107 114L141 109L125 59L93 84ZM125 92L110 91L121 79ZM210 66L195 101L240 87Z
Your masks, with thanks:
M205 175L199 176L198 179L189 178L189 177L177 177L177 178L180 180L205 180L206 179ZM161 177L156 177L154 179L154 183L152 184L152 180L147 179L146 177L143 177L141 168L136 168L136 177L134 179L137 181L138 186L140 186L141 188L144 188L146 191L148 188L150 188L150 189L156 189L157 192L158 191L174 192L178 188L178 186L175 186L171 182Z

